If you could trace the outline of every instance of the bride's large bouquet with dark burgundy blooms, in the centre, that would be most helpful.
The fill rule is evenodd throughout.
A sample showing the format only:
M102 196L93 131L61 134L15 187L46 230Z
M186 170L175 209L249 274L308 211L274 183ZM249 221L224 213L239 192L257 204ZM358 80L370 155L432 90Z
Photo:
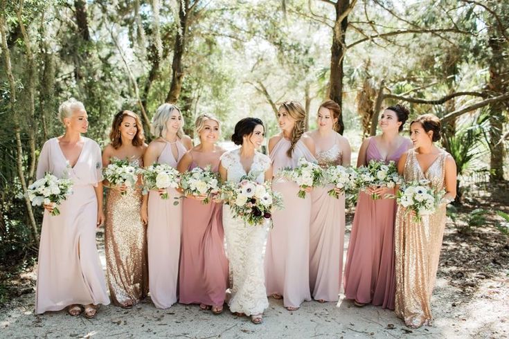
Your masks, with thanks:
M271 211L283 208L280 194L273 192L267 183L244 179L240 183L227 181L221 187L221 197L230 206L231 214L249 225L263 225L271 218Z

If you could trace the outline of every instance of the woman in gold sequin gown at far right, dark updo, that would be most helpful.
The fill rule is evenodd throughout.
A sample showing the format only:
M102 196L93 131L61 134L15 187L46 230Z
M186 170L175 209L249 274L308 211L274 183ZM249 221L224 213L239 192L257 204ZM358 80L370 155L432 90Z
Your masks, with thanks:
M440 120L425 114L410 124L413 149L403 154L398 172L405 181L427 179L431 187L445 190L442 203L433 214L416 222L412 213L398 208L395 226L396 300L395 312L409 327L431 324L430 300L438 269L445 228L445 206L456 197L456 163L434 145L440 140Z

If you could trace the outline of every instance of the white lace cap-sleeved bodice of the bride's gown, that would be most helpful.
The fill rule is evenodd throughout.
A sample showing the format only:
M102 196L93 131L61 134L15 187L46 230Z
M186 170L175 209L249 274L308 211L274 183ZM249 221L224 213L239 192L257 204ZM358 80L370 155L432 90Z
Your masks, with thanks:
M244 171L242 163L240 163L240 148L226 152L221 156L221 164L228 173L227 181L239 182L242 176L249 176L254 181L262 183L265 181L265 171L269 169L270 158L260 152L255 152L253 165L249 173Z

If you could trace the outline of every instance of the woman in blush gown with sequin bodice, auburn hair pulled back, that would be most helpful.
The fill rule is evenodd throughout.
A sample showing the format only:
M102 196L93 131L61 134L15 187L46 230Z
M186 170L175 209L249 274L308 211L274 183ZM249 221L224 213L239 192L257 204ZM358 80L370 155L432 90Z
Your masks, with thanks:
M338 131L341 107L327 100L318 109L318 129L308 135L314 140L316 160L321 167L350 166L350 143ZM339 199L316 187L311 192L310 288L318 302L337 302L343 273L345 237L345 195Z

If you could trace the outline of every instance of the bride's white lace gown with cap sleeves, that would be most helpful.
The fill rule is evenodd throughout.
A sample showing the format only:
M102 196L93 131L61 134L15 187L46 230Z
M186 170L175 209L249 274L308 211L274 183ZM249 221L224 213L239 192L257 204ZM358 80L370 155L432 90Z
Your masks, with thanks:
M240 163L240 149L234 149L223 154L221 163L227 171L228 181L238 183L243 176L249 174L251 180L262 183L271 161L265 154L256 152L251 170L246 173ZM269 306L263 266L269 223L251 226L240 219L233 219L230 207L224 205L223 227L230 262L230 311L246 315L263 313Z

